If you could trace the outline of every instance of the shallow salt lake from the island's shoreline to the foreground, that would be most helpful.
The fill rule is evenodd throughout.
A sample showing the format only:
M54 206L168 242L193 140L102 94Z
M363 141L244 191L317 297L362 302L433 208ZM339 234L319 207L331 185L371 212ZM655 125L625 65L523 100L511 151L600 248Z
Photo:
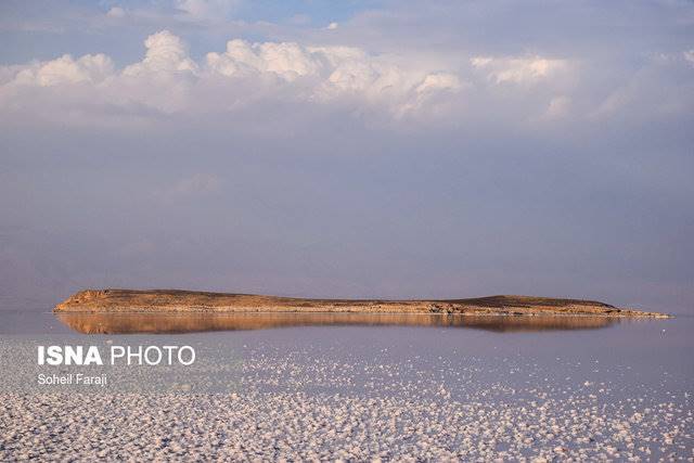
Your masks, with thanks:
M67 439L73 452L111 458L693 456L689 316L0 318L5 347L13 338L198 350L195 369L179 372L190 383L184 393L166 389L175 381L150 391L3 388L0 425L12 437L0 455L8 458L40 456L40 449L60 455ZM136 383L153 385L165 373Z

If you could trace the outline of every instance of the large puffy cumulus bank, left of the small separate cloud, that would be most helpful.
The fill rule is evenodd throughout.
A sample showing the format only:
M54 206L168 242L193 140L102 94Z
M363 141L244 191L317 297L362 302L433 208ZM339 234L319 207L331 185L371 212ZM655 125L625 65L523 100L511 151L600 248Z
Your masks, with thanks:
M83 89L78 100L89 100L89 111L102 104L110 112L140 107L144 113L198 114L230 111L250 98L272 99L282 92L304 104L348 100L352 105L400 117L434 104L437 94L462 88L454 73L416 64L403 67L389 56L350 47L235 39L227 43L226 51L207 53L200 64L189 55L185 43L168 30L147 37L144 47L144 57L123 69L104 54L64 55L2 67L0 76L5 83L0 88L0 101L17 97L18 89L30 86L83 83L91 87ZM17 98L30 98L26 91L18 93ZM64 100L64 107L70 104L65 99L75 99L75 93L74 89L56 89L52 97Z

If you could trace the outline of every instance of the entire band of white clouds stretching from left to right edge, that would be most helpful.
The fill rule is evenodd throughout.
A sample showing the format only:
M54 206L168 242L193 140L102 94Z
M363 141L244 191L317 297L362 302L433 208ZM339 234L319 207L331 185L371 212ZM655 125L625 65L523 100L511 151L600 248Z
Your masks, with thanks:
M468 67L446 66L445 59L373 54L357 47L233 39L223 51L195 61L180 37L162 30L144 40L140 61L121 68L105 54L0 66L0 118L20 120L15 115L22 113L27 120L141 125L211 114L243 121L248 111L267 118L278 107L288 114L294 105L303 114L342 112L377 124L594 119L614 117L644 94L656 94L658 76L679 75L672 66L691 70L682 57L646 63L642 77L605 97L582 83L600 81L600 69L566 59L472 56ZM658 114L689 104L674 93L654 100L663 106ZM304 111L309 105L320 111Z

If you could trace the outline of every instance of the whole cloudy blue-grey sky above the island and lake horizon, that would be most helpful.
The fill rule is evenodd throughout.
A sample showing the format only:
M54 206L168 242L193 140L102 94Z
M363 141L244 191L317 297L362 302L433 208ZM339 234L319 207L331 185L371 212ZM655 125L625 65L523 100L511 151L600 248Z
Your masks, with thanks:
M694 313L694 2L3 1L0 307Z

